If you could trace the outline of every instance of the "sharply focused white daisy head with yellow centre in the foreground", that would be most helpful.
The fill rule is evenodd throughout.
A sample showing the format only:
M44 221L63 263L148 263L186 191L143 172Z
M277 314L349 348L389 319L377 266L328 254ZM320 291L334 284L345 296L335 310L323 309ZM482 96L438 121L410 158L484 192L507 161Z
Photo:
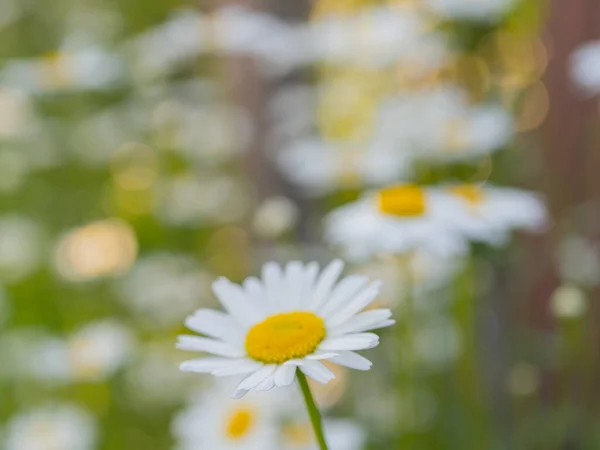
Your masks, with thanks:
M378 295L380 283L349 276L337 283L343 263L333 261L320 274L316 263L263 266L262 280L243 285L220 278L213 291L226 313L200 309L186 320L206 335L180 336L178 348L214 356L186 361L181 370L215 376L246 375L234 398L248 391L288 386L299 369L326 384L335 375L320 361L368 370L371 362L355 353L376 347L368 330L394 323L387 309L362 312Z

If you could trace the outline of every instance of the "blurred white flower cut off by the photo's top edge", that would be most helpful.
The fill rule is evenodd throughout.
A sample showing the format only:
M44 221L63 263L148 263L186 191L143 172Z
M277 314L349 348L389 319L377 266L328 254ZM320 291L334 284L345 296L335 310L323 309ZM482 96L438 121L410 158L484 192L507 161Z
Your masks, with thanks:
M494 22L512 8L516 0L424 0L424 3L450 19Z

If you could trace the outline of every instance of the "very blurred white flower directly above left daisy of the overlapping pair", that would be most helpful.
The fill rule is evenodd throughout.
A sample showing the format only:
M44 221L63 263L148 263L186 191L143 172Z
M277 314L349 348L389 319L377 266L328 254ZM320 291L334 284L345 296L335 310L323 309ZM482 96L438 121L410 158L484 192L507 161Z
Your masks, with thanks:
M278 162L283 173L308 195L323 195L406 179L412 155L385 142L336 144L306 139L281 149Z

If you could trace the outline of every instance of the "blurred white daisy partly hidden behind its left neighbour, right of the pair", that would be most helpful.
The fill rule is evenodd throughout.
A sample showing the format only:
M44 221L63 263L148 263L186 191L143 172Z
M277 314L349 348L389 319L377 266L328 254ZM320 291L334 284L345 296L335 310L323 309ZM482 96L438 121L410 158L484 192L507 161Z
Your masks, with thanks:
M512 230L540 231L548 222L542 199L531 192L472 184L443 189L455 211L448 221L472 241L501 245Z

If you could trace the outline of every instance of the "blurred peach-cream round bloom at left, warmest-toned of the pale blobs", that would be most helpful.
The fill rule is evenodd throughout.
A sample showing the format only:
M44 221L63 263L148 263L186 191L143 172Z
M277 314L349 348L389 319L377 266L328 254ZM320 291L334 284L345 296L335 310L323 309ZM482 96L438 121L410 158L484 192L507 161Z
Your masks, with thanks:
M64 234L54 251L58 273L73 282L126 273L135 262L133 228L118 219L93 222Z

